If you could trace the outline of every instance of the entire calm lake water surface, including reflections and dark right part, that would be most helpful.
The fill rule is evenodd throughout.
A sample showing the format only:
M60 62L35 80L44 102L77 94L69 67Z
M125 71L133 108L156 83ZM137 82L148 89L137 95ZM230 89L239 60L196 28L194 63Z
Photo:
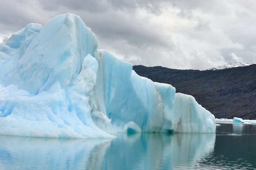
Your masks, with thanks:
M256 125L216 134L118 134L116 139L0 136L0 170L255 169Z

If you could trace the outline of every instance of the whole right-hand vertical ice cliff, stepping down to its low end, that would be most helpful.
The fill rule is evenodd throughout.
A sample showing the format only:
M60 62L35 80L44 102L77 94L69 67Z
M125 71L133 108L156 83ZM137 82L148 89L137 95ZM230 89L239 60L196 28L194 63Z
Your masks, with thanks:
M135 123L142 132L215 132L215 118L195 98L169 84L138 76L131 63L99 50L95 96L113 126ZM128 126L129 127L129 126ZM131 130L131 127L129 127Z

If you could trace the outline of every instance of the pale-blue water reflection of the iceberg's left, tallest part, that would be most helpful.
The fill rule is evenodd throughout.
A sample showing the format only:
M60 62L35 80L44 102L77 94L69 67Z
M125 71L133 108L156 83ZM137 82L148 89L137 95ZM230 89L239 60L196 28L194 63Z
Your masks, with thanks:
M110 140L0 135L0 169L79 170L86 167L101 169Z

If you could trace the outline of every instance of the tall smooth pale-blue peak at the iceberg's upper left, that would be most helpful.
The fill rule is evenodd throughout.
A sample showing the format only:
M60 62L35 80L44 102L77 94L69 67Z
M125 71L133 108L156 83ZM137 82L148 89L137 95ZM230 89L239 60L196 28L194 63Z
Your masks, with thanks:
M28 25L7 41L10 47L18 47L18 40L24 41L19 37L27 36L26 30L37 33L23 49L24 54L20 53L16 68L7 75L7 84L34 94L48 90L57 81L64 88L82 69L84 57L97 54L96 36L75 14L58 15L40 30L34 27Z

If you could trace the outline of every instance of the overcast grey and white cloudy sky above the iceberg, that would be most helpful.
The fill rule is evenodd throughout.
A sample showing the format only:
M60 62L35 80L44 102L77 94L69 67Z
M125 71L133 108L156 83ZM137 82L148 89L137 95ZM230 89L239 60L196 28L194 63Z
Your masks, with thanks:
M254 0L0 0L0 43L62 13L79 15L99 49L133 65L256 63Z

